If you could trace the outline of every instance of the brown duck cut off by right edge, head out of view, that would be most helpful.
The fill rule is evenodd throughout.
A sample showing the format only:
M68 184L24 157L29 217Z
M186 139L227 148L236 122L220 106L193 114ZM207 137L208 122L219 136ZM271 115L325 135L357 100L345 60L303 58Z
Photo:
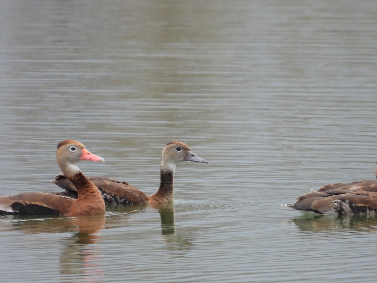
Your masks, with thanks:
M377 163L375 166L377 177ZM286 205L319 214L377 214L377 181L333 183L302 195Z

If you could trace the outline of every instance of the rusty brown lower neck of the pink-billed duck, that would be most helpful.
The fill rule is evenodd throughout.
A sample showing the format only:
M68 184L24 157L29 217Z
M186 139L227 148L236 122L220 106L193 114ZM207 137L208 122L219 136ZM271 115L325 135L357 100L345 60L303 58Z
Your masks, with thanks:
M75 175L67 177L77 189L78 200L85 200L87 198L98 198L102 200L101 192L83 172L79 171Z

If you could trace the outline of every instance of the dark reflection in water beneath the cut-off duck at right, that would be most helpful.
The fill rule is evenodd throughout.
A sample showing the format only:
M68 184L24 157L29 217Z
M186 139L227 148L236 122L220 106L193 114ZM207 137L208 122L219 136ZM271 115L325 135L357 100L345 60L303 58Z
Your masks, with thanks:
M302 232L334 230L377 231L377 217L369 215L316 215L304 213L289 221Z

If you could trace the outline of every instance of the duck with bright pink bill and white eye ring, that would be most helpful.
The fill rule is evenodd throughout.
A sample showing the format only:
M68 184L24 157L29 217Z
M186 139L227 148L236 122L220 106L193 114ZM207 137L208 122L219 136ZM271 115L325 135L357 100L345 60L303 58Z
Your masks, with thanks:
M77 167L80 160L104 161L91 154L82 143L63 140L58 144L56 159L63 173L75 184L78 198L43 192L25 192L0 197L0 214L19 215L92 215L105 212L101 193Z

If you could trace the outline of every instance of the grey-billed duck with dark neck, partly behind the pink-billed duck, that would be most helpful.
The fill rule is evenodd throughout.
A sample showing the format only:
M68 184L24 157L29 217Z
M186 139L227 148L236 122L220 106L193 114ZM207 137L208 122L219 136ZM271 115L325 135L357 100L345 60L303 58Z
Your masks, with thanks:
M193 161L208 163L206 160L192 153L189 146L180 141L171 141L162 149L160 186L157 192L146 196L139 189L130 186L126 182L116 181L103 177L90 177L90 180L98 187L106 203L123 205L158 205L167 203L174 198L174 171L181 161ZM52 183L66 189L63 195L75 197L75 186L64 175L58 175Z

